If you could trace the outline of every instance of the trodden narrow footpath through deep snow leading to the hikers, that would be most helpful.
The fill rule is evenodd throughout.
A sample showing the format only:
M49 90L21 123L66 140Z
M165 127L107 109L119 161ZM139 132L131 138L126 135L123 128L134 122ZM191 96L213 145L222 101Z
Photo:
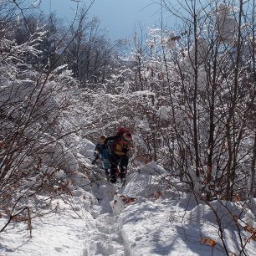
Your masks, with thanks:
M110 207L116 188L110 184L95 186L95 194L99 199L91 214L94 219L88 223L87 228L94 230L87 233L83 256L128 256L123 238L118 228L119 216L114 216ZM86 234L86 230L84 230Z

